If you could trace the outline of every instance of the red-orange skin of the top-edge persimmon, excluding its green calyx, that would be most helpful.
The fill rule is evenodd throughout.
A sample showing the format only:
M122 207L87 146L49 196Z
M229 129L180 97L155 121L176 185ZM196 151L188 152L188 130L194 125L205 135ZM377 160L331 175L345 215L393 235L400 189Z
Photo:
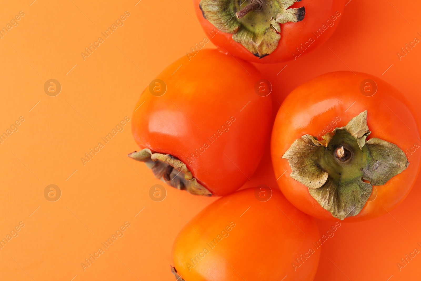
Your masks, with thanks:
M309 53L325 43L333 34L339 21L344 16L345 0L303 0L296 2L291 8L305 7L304 19L299 22L280 24L281 39L275 51L259 59L243 45L232 39L232 34L219 31L213 24L203 17L199 8L200 0L193 0L195 12L205 31L205 36L213 44L249 62L276 63L285 62ZM335 19L335 20L333 20ZM317 30L322 29L323 32ZM312 38L312 40L310 40ZM303 44L303 45L301 45ZM303 47L304 46L304 47ZM299 51L297 50L299 49ZM296 54L295 56L293 54Z

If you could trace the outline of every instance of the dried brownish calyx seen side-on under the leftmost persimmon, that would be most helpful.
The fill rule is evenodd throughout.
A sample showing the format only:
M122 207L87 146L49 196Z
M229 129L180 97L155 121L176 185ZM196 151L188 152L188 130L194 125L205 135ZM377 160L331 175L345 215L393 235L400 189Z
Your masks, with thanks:
M150 149L144 148L127 156L144 162L157 179L172 187L187 190L188 193L195 195L212 195L206 187L197 182L186 164L171 154L153 153Z

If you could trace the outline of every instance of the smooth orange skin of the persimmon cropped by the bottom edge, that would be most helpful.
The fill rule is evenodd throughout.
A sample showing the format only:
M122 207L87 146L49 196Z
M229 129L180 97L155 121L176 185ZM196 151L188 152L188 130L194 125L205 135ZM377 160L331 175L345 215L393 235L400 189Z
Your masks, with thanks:
M280 281L286 275L311 281L320 257L312 243L319 236L314 219L279 190L261 202L249 188L218 199L190 220L174 242L173 266L185 281ZM214 238L219 241L209 245ZM314 252L301 258L310 248ZM294 268L297 258L302 262Z

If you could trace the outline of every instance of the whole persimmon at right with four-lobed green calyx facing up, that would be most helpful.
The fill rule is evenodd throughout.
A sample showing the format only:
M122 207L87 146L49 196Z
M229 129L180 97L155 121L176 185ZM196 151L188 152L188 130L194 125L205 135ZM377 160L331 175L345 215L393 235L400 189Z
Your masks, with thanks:
M420 168L419 154L410 152L418 142L418 124L399 91L365 73L332 72L287 96L271 154L294 206L320 219L357 221L405 199Z

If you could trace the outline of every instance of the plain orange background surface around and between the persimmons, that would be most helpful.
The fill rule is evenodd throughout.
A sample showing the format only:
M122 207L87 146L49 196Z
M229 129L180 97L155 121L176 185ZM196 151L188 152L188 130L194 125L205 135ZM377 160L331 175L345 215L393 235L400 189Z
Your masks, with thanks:
M149 188L162 182L126 156L137 149L130 122L85 165L80 158L131 117L141 91L159 72L203 41L191 1L32 1L0 3L0 27L24 12L0 38L0 132L24 117L0 144L0 238L24 223L0 249L1 279L175 280L169 267L173 240L216 198L167 187L165 200L152 201ZM84 60L80 53L125 11L130 16L123 26ZM398 88L421 121L421 46L401 60L397 56L414 37L421 39L420 11L415 0L352 0L320 48L296 61L257 65L272 82L274 114L278 102L306 80L352 70ZM61 84L59 95L44 92L49 79ZM58 201L44 197L50 184L61 190ZM260 184L277 188L267 149L245 186ZM414 248L421 250L419 186L418 180L408 198L383 217L343 223L321 247L315 280L419 278L421 255L401 271L396 265ZM83 270L85 258L125 222L130 227L124 235ZM320 233L332 225L318 223Z

